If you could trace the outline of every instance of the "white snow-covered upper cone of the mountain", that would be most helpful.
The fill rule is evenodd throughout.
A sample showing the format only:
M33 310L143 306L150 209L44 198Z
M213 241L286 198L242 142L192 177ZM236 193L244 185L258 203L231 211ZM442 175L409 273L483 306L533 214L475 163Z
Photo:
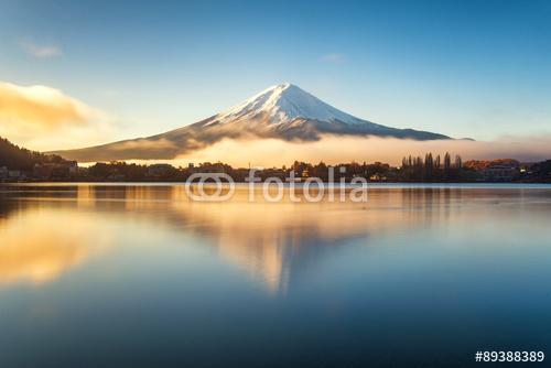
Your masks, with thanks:
M357 119L325 104L290 83L283 83L262 90L229 110L218 113L215 121L226 123L241 119L255 120L260 118L268 119L273 125L290 122L295 119L325 122L341 121L345 123L365 122L365 120Z

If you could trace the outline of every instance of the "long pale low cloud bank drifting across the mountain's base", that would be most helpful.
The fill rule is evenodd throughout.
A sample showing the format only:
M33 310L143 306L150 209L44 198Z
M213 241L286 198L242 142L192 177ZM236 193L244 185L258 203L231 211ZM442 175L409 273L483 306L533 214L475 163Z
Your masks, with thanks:
M391 138L324 136L314 142L278 139L224 139L205 149L184 154L174 164L222 161L235 166L280 166L294 160L328 164L339 162L388 162L399 164L403 156L461 154L463 160L512 158L519 161L551 159L551 134L503 137L495 141L413 141Z

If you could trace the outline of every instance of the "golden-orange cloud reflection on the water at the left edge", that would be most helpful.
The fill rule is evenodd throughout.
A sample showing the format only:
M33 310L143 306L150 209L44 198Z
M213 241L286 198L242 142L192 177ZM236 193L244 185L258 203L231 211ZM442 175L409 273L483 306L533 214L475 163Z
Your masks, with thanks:
M108 240L90 218L75 213L26 209L0 223L0 284L40 284L80 264Z

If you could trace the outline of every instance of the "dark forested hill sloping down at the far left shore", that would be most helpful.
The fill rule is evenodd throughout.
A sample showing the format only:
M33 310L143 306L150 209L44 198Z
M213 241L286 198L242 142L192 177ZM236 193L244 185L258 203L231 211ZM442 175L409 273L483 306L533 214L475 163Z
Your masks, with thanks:
M36 163L61 163L65 160L54 154L43 154L20 148L0 137L0 167L10 170L32 170Z

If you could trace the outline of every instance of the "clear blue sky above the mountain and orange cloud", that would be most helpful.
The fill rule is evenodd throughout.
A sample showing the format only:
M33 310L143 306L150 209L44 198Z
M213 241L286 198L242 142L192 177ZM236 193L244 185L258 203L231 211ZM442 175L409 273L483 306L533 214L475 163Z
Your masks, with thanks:
M0 80L106 111L106 141L282 82L398 128L551 131L551 1L0 1Z

